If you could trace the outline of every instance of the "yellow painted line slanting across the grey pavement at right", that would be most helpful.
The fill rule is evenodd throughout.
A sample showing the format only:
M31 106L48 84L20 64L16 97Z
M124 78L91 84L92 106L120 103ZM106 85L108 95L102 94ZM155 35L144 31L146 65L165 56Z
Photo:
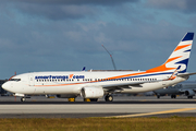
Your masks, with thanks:
M172 110L157 111L157 112L146 112L146 114L124 115L124 116L111 116L111 117L106 117L106 118L142 117L142 116L150 116L150 115L161 115L161 114L181 112L181 111L195 110L195 109L196 109L196 108L182 108L182 109L172 109Z

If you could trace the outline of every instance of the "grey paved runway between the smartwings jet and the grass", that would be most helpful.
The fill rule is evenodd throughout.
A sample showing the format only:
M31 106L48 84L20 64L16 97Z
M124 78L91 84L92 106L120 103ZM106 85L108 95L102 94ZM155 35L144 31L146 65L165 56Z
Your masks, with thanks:
M179 97L118 97L112 103L70 103L65 99L33 97L25 103L19 98L0 97L0 118L87 118L87 117L196 117L196 99ZM125 100L126 99L126 100Z

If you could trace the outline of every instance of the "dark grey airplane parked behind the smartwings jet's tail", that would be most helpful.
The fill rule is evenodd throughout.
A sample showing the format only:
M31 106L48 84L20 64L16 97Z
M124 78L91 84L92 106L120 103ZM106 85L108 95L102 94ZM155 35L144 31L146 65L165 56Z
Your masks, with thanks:
M154 93L157 95L157 98L160 98L160 96L164 96L167 94L171 95L171 98L176 98L176 95L182 94L186 95L187 98L193 98L196 93L196 81L181 82L172 86L156 90Z

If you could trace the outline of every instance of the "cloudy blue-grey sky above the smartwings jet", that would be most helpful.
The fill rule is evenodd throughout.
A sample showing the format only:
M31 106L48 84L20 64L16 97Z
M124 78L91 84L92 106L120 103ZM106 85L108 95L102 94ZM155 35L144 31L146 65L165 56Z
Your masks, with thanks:
M193 0L0 0L0 79L36 71L147 70L196 31ZM196 72L193 45L188 72ZM191 80L196 80L192 76Z

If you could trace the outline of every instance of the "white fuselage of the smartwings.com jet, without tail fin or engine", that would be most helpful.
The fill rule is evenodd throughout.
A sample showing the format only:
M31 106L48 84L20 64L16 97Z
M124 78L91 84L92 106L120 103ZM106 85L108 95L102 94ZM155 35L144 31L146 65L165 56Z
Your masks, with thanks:
M118 93L140 93L173 85L187 79L176 76L174 80L167 80L171 73L145 73L143 71L34 72L16 75L4 83L2 87L17 94L78 95L83 87L101 87L103 91L114 88L113 91Z

